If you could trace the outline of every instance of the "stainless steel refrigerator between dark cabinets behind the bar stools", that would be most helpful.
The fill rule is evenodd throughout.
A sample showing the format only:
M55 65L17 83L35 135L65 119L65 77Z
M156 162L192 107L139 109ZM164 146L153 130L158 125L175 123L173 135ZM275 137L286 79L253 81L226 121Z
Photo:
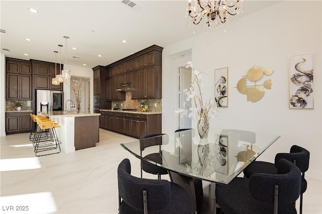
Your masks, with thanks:
M36 90L36 113L63 111L63 92L59 90Z

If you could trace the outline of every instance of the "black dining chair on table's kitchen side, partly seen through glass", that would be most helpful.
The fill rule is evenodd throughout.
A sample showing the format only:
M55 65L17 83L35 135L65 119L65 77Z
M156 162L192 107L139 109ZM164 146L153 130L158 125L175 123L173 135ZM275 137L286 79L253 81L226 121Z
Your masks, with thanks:
M145 155L144 158L148 160L152 160L158 164L162 164L162 156L160 154L161 145L167 144L168 141L169 139L166 137L165 134L151 134L151 135L142 136L140 138L141 157L142 157L142 151L144 151L145 148L150 146L159 146L159 152L150 153L148 155ZM141 178L142 178L142 171L153 175L157 175L157 179L161 179L161 175L168 174L168 170L141 160Z

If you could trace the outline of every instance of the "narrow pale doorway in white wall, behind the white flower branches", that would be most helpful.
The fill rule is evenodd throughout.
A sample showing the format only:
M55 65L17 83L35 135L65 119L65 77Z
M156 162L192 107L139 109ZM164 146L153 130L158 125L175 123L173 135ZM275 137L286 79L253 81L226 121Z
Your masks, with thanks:
M178 93L178 100L179 100L179 108L187 108L186 106L191 106L191 99L187 101L186 94L184 92L185 88L190 88L191 86L191 68L179 68L179 93ZM184 106L184 102L186 106ZM179 115L179 127L178 129L191 129L191 118L186 116Z

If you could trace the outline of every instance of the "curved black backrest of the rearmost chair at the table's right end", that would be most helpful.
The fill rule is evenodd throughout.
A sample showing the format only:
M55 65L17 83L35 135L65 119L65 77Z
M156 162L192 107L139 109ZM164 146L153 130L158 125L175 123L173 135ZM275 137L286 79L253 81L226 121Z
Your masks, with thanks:
M275 166L280 159L285 158L294 163L301 172L306 172L309 166L310 153L306 149L293 145L290 153L277 153L275 156Z

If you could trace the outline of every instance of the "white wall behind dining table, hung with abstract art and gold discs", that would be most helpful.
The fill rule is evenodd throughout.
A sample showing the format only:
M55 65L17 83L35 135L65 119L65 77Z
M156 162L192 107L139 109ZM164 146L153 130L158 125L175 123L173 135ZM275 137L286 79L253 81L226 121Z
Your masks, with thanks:
M214 96L214 69L229 67L229 106L220 109L211 126L254 130L280 135L261 159L274 161L278 152L289 152L292 145L310 151L309 172L321 177L321 1L283 1L231 23L226 32L200 34L167 46L163 52L163 132L176 127L173 90L174 60L169 55L192 48L196 68L209 74L203 92ZM314 52L314 110L290 110L288 57ZM236 88L237 81L254 65L272 68L272 89L258 102L246 100ZM195 122L196 123L196 122Z

